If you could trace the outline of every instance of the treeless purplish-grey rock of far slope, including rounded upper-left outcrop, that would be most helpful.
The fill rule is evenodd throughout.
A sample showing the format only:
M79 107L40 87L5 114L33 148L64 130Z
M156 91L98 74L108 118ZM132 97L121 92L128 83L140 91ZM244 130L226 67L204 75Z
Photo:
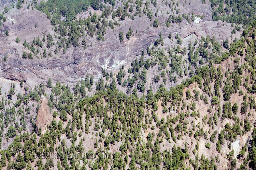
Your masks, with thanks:
M172 33L173 37L178 33L182 39L186 38L182 44L186 48L189 43L187 36L191 34L195 35L195 37L193 36L195 39L207 35L215 36L218 41L231 39L231 24L211 21L211 7L208 1L206 4L202 4L200 0L179 2L180 14L193 12L195 15L204 15L205 18L201 19L199 23L191 22L189 24L186 24L186 20L183 19L180 24L172 24L169 28L166 28L165 22L170 15L165 11L169 11L170 8L161 3L165 2L159 2L159 28L153 28L151 26L153 21L147 17L136 16L134 20L126 18L124 21L120 21L120 26L116 26L114 31L106 28L105 41L87 38L87 44L91 43L92 47L87 49L71 47L67 49L66 54L59 53L57 55L54 54L54 49L51 49L54 55L52 58L41 59L41 54L38 54L38 58L34 56L33 60L22 59L23 52L29 52L23 47L23 41L31 43L37 36L42 39L44 33L54 35L53 26L46 15L40 11L27 10L25 7L16 11L12 9L5 14L7 20L0 31L3 33L8 29L10 32L8 38L0 35L0 57L7 56L6 62L0 63L0 77L18 81L25 80L26 84L32 88L36 84L34 82L46 83L48 78L52 78L53 82L73 84L84 78L87 73L94 74L94 77L99 79L102 68L105 68L107 72L112 70L115 73L122 65L130 66L132 59L139 57L142 50L145 51L147 46L154 44L160 32L163 35L165 42L163 48L166 49L166 53L169 47L177 45L174 38L173 40L168 38L169 33ZM87 16L88 12L85 12L77 15L77 18ZM35 24L37 24L36 28ZM125 38L120 43L119 32L123 31L126 34L130 27L133 30L131 39ZM238 34L239 32L237 32ZM234 34L233 37L237 35ZM21 43L15 43L16 37L19 37ZM43 48L47 49L45 45ZM47 51L49 50L47 49ZM170 83L170 86L173 84Z

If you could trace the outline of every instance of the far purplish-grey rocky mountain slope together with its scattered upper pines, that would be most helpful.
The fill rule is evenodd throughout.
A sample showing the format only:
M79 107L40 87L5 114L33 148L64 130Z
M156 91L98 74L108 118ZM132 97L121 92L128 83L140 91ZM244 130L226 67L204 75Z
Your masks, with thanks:
M102 68L110 73L117 72L122 65L128 67L142 50L159 38L160 32L167 53L169 47L176 46L174 37L177 33L182 40L191 33L196 33L197 39L207 35L212 38L215 33L217 41L224 38L231 41L231 31L235 28L225 22L212 21L210 3L202 4L201 1L127 1L116 2L114 7L106 2L102 10L89 7L81 11L75 7L72 14L76 14L76 20L72 21L66 13L58 12L58 5L54 6L56 11L45 12L43 7L52 9L51 3L38 2L30 6L24 3L20 10L12 8L4 14L6 21L1 29L0 55L6 57L6 61L1 63L1 77L24 80L32 88L35 85L33 80L46 83L48 78L55 83L72 85L85 78L87 73L99 80ZM71 6L68 8L71 13ZM124 20L121 19L123 15ZM154 26L157 20L158 26ZM130 27L131 35L126 36ZM9 36L4 34L6 30ZM122 42L120 32L124 34ZM168 38L170 33L172 39ZM239 37L240 33L236 32L232 37ZM15 42L17 37L19 43ZM188 39L183 40L183 47L188 48ZM32 60L25 57L30 53Z

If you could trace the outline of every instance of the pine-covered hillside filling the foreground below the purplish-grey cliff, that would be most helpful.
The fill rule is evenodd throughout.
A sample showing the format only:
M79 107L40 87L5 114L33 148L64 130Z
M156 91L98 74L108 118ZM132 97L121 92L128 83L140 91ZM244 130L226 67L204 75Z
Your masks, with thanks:
M9 93L1 94L1 136L5 142L13 141L1 151L1 167L256 169L255 27L256 22L230 47L224 45L229 50L221 54L216 49L224 47L209 37L190 41L188 60L195 71L170 89L163 87L165 79L182 73L179 62L175 64L184 51L179 46L168 54L161 48L145 49L152 57L145 60L142 52L127 71L103 70L99 82L88 75L72 89L53 85L49 79L17 94L23 82L19 87L12 83ZM214 50L205 53L210 46ZM167 65L172 69L167 70ZM151 67L162 70L156 81L162 79L163 84L155 94L148 90L138 97ZM125 75L129 80L124 80ZM136 78L141 84L131 95L117 90ZM87 96L94 84L97 92ZM42 95L48 99L53 120L39 128L35 122L40 114L34 113L47 107L40 107ZM28 121L31 133L26 132Z

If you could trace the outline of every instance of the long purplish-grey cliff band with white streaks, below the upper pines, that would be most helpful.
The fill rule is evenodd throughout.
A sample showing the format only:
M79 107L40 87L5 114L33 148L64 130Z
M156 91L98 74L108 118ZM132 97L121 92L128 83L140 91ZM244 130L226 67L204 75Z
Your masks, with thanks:
M95 78L98 78L102 68L115 72L123 64L129 66L133 58L139 56L142 50L145 50L148 45L154 43L159 37L160 32L165 37L166 48L168 46L175 46L175 42L168 39L170 32L173 33L173 37L178 33L182 38L185 38L184 43L186 44L183 43L182 46L188 47L189 39L187 36L191 34L195 35L195 37L193 36L194 39L208 34L211 36L215 34L215 38L219 41L230 38L230 32L225 34L222 31L223 29L230 28L230 24L227 24L228 26L226 24L223 26L221 21L205 21L192 27L185 26L181 30L179 28L159 28L155 31L153 28L150 28L144 34L134 35L132 39L124 40L123 43L118 42L118 32L124 31L123 29L115 32L108 30L106 40L104 42L97 42L98 45L94 44L93 47L87 49L74 49L71 47L61 57L48 59L34 58L33 60L24 60L21 56L26 49L21 44L15 45L9 41L4 41L0 45L0 56L3 57L7 54L7 61L0 64L2 69L0 76L11 80L25 80L31 87L35 85L33 83L34 80L46 82L48 78L52 78L54 82L59 81L61 83L75 83L80 78L84 78L86 73L94 74ZM209 28L211 25L213 31L205 31L205 28ZM142 28L140 31L142 32ZM17 32L17 35L24 33L20 30ZM13 35L12 41L14 43L17 35ZM25 40L26 38L20 39ZM16 47L13 47L13 45Z

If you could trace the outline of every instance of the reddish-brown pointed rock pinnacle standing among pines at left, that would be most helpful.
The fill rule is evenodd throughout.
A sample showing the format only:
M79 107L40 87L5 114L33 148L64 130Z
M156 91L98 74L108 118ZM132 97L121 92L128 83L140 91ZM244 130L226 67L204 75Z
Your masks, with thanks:
M42 134L45 133L47 124L50 124L53 119L53 116L48 106L48 99L45 96L41 96L41 107L38 110L37 122L35 125L37 127L37 132L41 128Z

